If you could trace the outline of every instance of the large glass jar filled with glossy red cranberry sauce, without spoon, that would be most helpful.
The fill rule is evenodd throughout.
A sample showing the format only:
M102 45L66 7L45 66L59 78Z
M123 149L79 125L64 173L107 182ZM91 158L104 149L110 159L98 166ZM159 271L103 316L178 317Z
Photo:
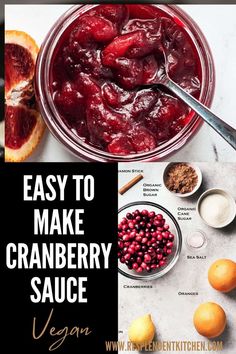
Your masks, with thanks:
M49 129L87 161L155 161L195 135L202 120L166 88L169 76L210 106L215 84L208 43L173 5L76 5L47 35L35 91ZM145 88L145 85L149 87Z

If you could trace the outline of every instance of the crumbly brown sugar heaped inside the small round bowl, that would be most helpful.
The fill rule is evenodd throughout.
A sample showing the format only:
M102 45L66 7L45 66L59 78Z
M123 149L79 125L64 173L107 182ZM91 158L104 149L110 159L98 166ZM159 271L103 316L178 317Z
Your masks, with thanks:
M175 193L190 193L196 187L198 176L193 167L187 163L176 163L167 171L166 187Z

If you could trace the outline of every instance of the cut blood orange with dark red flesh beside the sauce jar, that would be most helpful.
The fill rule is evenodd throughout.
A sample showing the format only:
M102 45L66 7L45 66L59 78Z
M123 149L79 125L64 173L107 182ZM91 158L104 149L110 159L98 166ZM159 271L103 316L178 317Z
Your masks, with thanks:
M25 160L45 129L33 89L38 46L25 32L5 32L5 160Z

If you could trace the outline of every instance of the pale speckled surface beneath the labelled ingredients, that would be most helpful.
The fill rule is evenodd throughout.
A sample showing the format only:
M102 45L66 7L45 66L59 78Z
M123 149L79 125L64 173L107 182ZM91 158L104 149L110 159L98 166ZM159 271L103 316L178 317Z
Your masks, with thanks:
M167 208L177 219L178 207L195 207L199 195L208 188L219 187L231 192L236 200L236 164L198 163L203 173L203 183L196 195L179 198L161 187L156 197L143 196L144 183L162 183L162 173L166 163L119 164L119 170L141 169L144 179L124 195L119 195L119 206L132 201L152 201ZM119 187L137 174L119 173ZM226 178L226 176L228 178ZM232 354L236 351L236 290L229 294L215 291L208 283L207 272L210 264L218 258L236 261L236 220L224 229L206 226L194 211L191 221L179 221L183 234L183 248L174 268L163 277L145 282L151 289L127 289L127 285L143 285L142 281L130 280L119 275L119 340L127 341L127 329L131 321L150 313L156 325L158 341L208 341L200 336L192 323L195 309L202 302L220 304L228 319L227 328L217 340L223 340L224 350L220 353ZM186 236L194 230L202 230L207 236L206 248L189 251L185 245ZM187 259L188 255L206 256L206 259ZM178 292L198 292L197 296L181 296ZM120 351L120 353L123 353ZM162 352L159 352L162 353ZM207 352L203 351L206 354Z

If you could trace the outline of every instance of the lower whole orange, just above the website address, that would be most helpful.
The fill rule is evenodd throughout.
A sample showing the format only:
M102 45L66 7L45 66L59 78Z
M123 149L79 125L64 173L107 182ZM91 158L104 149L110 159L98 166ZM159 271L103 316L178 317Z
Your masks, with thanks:
M218 337L225 329L226 315L222 307L214 302L201 304L194 313L193 323L202 336Z

